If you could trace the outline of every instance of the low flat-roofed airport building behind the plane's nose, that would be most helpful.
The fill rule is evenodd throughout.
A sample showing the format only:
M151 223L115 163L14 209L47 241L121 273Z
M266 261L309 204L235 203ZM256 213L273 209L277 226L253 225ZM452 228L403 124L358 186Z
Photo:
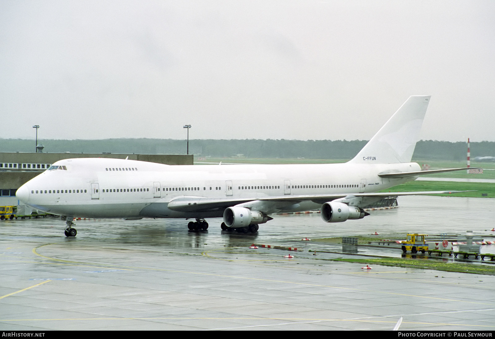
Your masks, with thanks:
M177 154L82 154L82 153L0 153L0 206L17 206L17 189L53 163L62 159L113 158L165 165L193 165L193 155Z

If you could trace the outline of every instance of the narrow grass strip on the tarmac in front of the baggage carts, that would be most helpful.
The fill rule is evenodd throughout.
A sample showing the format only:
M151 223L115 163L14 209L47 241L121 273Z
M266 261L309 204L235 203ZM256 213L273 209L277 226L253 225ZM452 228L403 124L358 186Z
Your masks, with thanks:
M484 274L495 276L495 266L485 266L485 265L469 265L461 263L452 262L437 262L432 260L414 260L414 259L402 259L402 258L376 258L376 259L320 259L320 260L330 260L330 261L343 261L348 263L358 263L363 265L384 265L384 266L395 266L395 267L408 267L416 269L426 269L426 270L437 270L437 271L447 271L447 272L461 272L461 273L472 273L472 274Z

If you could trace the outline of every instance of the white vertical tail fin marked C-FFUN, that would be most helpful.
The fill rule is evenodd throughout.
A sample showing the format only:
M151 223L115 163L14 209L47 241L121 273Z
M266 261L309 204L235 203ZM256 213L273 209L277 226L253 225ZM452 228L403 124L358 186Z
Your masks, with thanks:
M349 163L411 162L431 96L411 96Z

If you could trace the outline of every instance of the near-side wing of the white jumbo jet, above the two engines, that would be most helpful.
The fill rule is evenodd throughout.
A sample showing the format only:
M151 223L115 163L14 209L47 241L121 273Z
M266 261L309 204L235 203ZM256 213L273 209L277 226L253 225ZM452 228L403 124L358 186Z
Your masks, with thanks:
M330 195L281 195L275 197L182 197L171 200L168 208L178 212L211 212L226 209L227 207L257 202L257 206L266 206L267 209L286 209L303 201L312 201L324 204L340 198L353 197L398 197L403 195L425 195L425 194L450 194L468 191L421 191L421 192L374 192L374 193L343 193ZM264 204L262 204L264 203ZM262 211L263 212L263 211Z

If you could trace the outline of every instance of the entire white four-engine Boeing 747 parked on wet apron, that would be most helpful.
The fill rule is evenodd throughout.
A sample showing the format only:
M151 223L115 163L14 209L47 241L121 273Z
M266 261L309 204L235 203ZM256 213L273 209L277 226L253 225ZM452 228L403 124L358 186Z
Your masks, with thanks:
M411 96L364 148L344 164L170 166L122 159L67 159L31 179L17 198L62 216L65 235L74 218L184 218L206 229L256 232L276 213L321 209L327 223L361 219L362 208L385 197L459 191L378 191L419 175L461 169L421 170L411 163L430 96ZM465 169L465 168L464 168Z

